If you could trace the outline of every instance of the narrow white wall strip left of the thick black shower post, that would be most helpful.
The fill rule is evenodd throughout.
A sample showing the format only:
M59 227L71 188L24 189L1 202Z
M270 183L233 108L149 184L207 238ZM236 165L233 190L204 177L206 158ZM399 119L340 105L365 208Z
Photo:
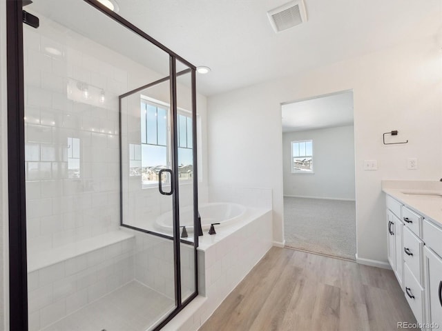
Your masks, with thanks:
M0 0L0 329L8 330L8 159L6 103L6 1Z

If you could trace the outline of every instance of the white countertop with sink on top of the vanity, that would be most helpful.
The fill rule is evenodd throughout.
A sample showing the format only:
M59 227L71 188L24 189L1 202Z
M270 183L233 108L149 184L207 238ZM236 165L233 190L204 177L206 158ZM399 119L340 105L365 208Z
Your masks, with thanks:
M425 219L442 227L442 182L383 181L382 190Z

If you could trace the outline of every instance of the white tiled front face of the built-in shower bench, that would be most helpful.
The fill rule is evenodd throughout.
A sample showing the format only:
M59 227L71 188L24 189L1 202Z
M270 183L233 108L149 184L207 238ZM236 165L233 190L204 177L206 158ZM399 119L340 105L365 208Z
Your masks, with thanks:
M30 330L40 330L135 279L131 237L28 274Z

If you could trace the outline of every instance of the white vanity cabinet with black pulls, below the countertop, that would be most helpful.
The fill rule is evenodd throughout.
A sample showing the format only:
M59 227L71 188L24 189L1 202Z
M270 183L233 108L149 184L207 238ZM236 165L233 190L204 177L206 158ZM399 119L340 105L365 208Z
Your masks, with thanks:
M423 330L441 330L442 224L390 195L386 202L388 261L416 321Z

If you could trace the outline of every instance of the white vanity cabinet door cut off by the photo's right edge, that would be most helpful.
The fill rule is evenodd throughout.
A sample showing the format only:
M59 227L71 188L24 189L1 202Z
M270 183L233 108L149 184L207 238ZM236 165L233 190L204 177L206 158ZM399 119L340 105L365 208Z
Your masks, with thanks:
M442 259L427 247L424 248L424 257L426 312L427 323L430 324L428 330L440 330L442 327Z

